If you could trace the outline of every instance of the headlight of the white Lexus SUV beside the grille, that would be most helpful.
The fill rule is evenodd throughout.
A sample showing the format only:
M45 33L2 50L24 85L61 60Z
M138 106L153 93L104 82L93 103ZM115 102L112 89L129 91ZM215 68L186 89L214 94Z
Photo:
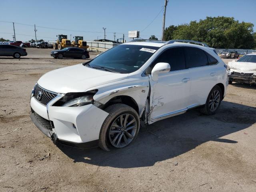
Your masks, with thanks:
M94 103L93 96L98 90L92 90L89 92L77 92L67 93L60 100L58 100L53 106L63 107L79 107Z

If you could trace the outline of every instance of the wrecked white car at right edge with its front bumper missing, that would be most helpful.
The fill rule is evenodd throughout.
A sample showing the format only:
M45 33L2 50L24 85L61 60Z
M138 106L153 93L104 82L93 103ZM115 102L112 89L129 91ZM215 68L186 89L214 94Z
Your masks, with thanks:
M256 84L256 53L228 62L228 67L229 84L232 82Z

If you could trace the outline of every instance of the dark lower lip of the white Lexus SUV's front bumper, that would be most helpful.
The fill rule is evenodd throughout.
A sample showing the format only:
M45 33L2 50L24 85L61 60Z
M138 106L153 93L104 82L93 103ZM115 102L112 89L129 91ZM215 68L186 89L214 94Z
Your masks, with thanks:
M66 141L66 140L60 140L58 139L58 137L56 136L56 134L54 132L52 132L51 130L49 130L48 128L44 127L37 119L35 116L35 113L32 112L30 114L30 118L32 120L32 122L35 124L35 126L41 131L43 132L43 134L45 134L46 136L48 136L49 138L52 139L53 143L58 145L58 144L63 144L66 146L70 146L70 147L75 147L75 148L83 148L83 149L90 149L90 148L96 148L98 147L98 141L99 140L93 140L93 141L89 141L89 142L85 142L85 143L76 143L76 142L70 142L70 141Z

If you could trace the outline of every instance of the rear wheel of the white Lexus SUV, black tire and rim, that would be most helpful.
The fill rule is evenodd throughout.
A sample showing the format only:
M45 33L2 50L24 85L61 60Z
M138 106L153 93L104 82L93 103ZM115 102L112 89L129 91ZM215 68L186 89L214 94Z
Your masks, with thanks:
M217 100L211 101L212 98L214 97L214 95L216 96L217 93L219 94L219 97L217 98ZM206 104L204 105L203 108L200 109L200 112L203 114L206 114L206 115L215 114L216 111L218 110L218 108L220 107L221 100L222 100L222 90L218 85L216 85L210 91L208 98L206 100ZM214 103L212 103L212 102L214 102ZM217 107L216 107L216 104L218 104ZM212 107L212 105L214 107Z

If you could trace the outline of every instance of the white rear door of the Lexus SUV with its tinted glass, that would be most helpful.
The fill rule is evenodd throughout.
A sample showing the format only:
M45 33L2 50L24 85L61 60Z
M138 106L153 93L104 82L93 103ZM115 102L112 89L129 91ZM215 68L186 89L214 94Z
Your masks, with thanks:
M210 90L216 85L218 60L200 48L185 47L184 51L191 77L188 108L192 108L205 104Z

